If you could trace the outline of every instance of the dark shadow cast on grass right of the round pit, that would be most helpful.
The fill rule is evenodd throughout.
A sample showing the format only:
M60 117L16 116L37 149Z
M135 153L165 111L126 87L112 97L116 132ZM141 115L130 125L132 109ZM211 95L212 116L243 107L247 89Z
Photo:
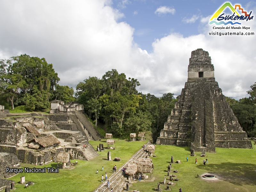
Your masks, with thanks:
M221 180L234 185L256 185L256 165L240 163L221 163L198 165L197 168L204 169L208 173L215 174Z

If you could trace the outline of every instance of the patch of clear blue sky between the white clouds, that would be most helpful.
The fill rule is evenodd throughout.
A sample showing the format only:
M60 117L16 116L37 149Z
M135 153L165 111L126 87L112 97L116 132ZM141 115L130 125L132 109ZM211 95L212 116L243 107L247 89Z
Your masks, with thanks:
M205 1L205 0L114 0L112 6L119 9L124 14L120 22L124 21L135 29L134 42L141 49L152 52L152 42L171 32L180 33L184 37L198 35L200 32L200 19L213 15L226 1ZM236 4L237 1L229 1ZM252 1L241 1L237 4L246 5ZM174 14L163 13L156 14L157 8L165 6L175 9ZM231 11L228 10L231 13ZM194 16L194 22L187 23L184 19L191 19Z

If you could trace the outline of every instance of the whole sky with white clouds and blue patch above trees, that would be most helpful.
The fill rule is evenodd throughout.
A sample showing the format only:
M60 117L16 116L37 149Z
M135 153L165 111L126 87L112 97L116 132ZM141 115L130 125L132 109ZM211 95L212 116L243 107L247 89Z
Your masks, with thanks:
M256 82L256 17L241 25L210 25L226 1L205 0L0 0L0 59L28 54L45 58L61 85L75 88L116 69L137 78L138 90L179 95L191 51L208 51L225 96L240 99ZM229 1L256 13L256 2ZM239 14L241 11L236 9ZM233 12L226 8L225 16ZM216 20L216 19L215 19ZM250 29L213 29L250 27ZM219 36L211 32L255 35Z

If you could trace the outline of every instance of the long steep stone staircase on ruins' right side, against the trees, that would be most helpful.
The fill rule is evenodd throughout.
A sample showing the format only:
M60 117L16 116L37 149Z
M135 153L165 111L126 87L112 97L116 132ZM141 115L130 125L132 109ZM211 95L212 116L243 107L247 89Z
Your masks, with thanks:
M77 119L83 124L84 129L86 129L89 133L89 138L93 140L100 140L100 133L93 127L90 121L87 120L84 114L80 114L75 112Z

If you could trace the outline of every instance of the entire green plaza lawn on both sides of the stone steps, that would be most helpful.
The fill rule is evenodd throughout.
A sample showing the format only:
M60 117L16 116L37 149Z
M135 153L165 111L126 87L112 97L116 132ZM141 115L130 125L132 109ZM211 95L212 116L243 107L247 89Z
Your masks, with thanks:
M105 140L90 141L94 148L103 143L107 145ZM147 142L147 141L145 141ZM107 161L107 152L99 152L100 156L90 160L81 161L73 170L60 170L59 173L19 173L10 178L15 182L20 181L20 176L25 176L26 181L33 181L35 185L29 189L25 189L24 185L17 184L15 191L36 191L36 192L89 192L93 191L100 185L100 178L105 172L108 172L108 177L112 174L114 165L120 168L136 151L138 151L145 142L126 142L116 139L116 150L111 151L111 158L120 157L121 162ZM171 156L174 161L180 160L181 164L172 164L172 170L176 169L179 172L175 173L179 181L175 181L175 186L170 186L172 191L179 191L182 188L183 192L254 192L256 191L256 146L253 142L254 149L238 149L238 148L216 148L217 153L206 153L209 164L203 165L203 159L200 153L196 156L189 156L189 147L175 147L166 145L156 145L155 155L151 157L154 164L155 180L153 182L137 182L130 186L130 191L138 189L143 192L154 191L157 183L161 183L161 188L166 188L163 185L164 176L166 183L169 181L167 177L167 167L171 161ZM186 160L188 156L188 162ZM195 159L198 159L195 164ZM26 167L34 167L28 164L22 164ZM46 167L56 167L56 163L45 165ZM101 167L104 171L101 171ZM43 166L36 166L41 168ZM96 174L96 170L99 173ZM211 173L219 178L218 181L205 181L201 178L196 178L196 175Z

